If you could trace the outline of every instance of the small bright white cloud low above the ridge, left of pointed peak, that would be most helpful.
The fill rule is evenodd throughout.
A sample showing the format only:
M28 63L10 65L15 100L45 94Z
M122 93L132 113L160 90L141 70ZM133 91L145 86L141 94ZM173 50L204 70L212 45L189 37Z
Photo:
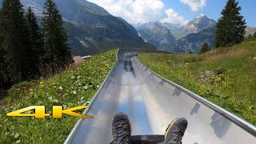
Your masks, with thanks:
M188 22L185 18L181 17L173 9L166 10L167 18L163 18L161 22L168 22L173 24L186 25Z

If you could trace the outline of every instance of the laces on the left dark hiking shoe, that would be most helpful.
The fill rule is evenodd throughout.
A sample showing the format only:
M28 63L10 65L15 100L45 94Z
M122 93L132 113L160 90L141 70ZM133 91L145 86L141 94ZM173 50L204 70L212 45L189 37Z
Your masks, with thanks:
M124 144L129 142L129 139L126 138L127 134L129 134L129 129L127 125L120 125L114 127L115 134L114 134L114 144Z

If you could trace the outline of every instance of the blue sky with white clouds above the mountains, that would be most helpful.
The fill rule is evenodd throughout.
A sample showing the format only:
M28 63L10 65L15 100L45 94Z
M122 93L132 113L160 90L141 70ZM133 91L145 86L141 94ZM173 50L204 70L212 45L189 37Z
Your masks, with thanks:
M227 0L88 0L131 24L170 22L186 25L200 15L218 20ZM238 1L238 0L237 0ZM240 0L247 26L256 27L256 1Z

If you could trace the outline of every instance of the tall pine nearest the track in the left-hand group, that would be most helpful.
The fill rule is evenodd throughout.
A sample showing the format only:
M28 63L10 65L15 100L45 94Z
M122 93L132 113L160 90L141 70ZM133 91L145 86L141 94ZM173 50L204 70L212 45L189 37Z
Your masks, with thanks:
M61 14L52 0L46 0L42 13L42 27L44 34L45 60L50 64L52 72L58 72L71 60L70 47L64 29Z

